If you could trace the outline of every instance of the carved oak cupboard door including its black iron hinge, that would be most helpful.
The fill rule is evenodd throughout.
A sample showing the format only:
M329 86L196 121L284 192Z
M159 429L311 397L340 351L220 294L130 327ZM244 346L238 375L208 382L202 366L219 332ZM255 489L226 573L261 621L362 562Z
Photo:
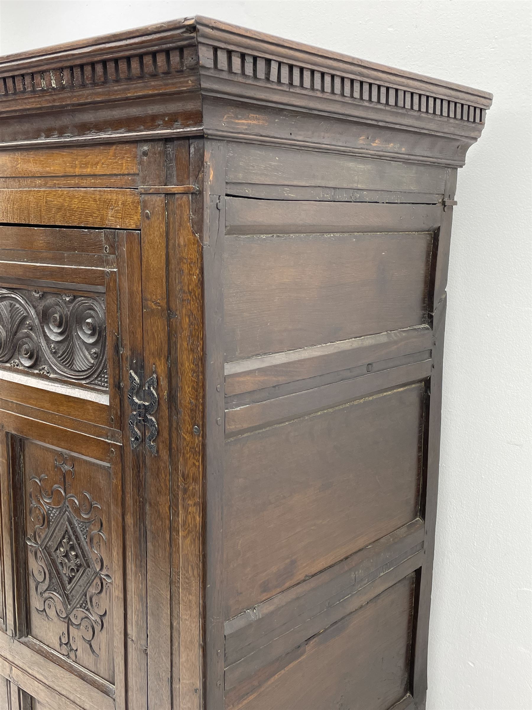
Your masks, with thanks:
M140 234L1 226L0 246L0 710L125 709L146 666L125 540L157 433Z

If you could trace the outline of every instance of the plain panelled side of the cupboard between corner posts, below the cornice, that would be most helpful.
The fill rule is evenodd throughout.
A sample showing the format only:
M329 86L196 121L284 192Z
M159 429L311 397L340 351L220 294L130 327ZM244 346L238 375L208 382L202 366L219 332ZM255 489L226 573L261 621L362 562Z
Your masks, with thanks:
M313 172L310 154L228 144L222 544L231 710L402 710L413 701L434 259L448 170L406 175L337 159L316 158ZM359 361L355 351L370 339L386 345ZM312 358L311 375L294 366L290 376L292 361ZM282 379L231 391L228 374L261 366ZM402 606L392 604L403 632L377 650L381 660L401 655L400 680L370 667L335 699L343 655L326 639L406 587ZM288 609L299 613L294 628ZM371 657L374 636L355 638L360 657ZM320 643L313 665L308 651ZM352 658L350 643L345 634L338 648Z

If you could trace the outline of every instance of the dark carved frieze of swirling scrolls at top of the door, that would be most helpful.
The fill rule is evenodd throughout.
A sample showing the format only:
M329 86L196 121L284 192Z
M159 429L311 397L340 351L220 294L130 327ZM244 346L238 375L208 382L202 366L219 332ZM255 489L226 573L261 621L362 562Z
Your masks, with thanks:
M0 364L106 387L104 298L0 288Z

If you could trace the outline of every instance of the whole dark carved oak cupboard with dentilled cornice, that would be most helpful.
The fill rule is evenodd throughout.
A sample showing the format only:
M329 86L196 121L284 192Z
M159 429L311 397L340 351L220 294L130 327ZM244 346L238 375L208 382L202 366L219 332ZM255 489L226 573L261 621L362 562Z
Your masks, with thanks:
M491 94L205 18L0 60L0 709L423 708Z

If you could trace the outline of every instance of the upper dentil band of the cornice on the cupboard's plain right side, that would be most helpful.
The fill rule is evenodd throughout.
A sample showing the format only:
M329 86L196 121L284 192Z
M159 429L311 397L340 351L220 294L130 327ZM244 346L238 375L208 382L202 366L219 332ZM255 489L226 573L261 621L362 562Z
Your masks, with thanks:
M478 138L492 94L197 17L202 94Z

